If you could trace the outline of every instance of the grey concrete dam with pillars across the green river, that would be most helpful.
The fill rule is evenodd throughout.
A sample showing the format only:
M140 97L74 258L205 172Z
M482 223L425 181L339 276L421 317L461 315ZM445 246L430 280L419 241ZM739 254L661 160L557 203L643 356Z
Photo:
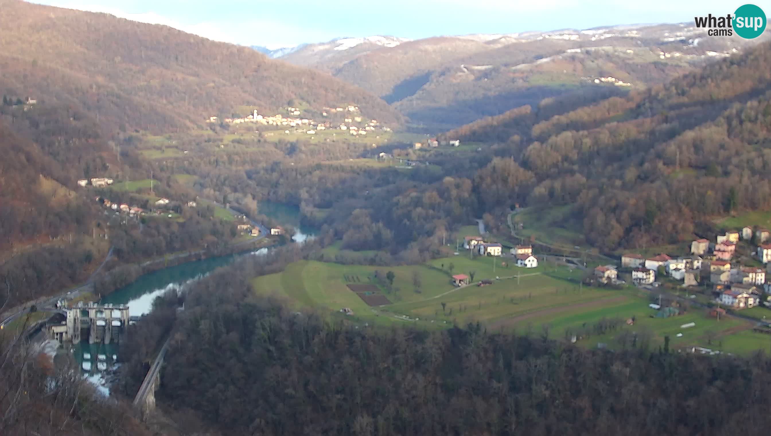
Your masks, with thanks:
M66 320L49 324L49 336L59 343L119 343L131 322L129 306L78 302L76 307L62 307Z

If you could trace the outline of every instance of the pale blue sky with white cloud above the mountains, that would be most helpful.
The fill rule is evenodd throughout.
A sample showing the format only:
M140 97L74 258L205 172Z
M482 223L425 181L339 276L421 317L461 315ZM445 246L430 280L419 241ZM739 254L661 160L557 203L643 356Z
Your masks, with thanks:
M277 49L339 36L394 35L409 39L469 33L516 33L642 22L692 22L726 15L732 0L36 0L170 25L217 41ZM755 2L769 14L769 0Z

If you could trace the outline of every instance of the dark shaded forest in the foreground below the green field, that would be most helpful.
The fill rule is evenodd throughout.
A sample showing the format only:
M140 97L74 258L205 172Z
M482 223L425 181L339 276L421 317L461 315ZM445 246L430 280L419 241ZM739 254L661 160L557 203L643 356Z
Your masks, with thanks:
M243 266L185 297L157 394L183 423L221 434L763 434L769 425L766 357L672 353L666 342L584 350L545 331L479 325L372 330L256 297Z

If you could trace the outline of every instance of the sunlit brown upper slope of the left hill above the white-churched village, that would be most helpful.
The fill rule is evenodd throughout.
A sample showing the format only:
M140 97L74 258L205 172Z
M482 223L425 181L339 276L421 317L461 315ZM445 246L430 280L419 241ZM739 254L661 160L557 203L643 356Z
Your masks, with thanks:
M112 15L0 0L0 92L99 113L107 127L155 132L202 125L238 106L271 112L290 100L355 104L392 123L377 97L326 74ZM244 114L245 115L245 114Z

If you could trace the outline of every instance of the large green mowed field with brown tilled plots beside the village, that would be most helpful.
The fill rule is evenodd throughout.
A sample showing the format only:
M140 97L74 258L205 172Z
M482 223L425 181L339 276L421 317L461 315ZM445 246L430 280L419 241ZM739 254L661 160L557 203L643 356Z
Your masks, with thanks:
M355 313L352 318L377 325L405 323L396 316L409 316L416 326L426 328L479 322L494 332L542 334L543 326L548 326L550 338L559 340L567 330L591 327L602 319L634 317L633 326L623 323L617 330L591 334L577 345L595 347L608 343L613 348L619 346L620 333L648 330L652 346L662 345L665 336L669 336L672 350L691 346L741 354L771 350L771 335L752 332L753 323L744 319L726 316L718 321L700 308L692 308L681 316L651 318L656 311L648 307L645 291L578 286L582 272L568 272L563 265L556 270L554 265L540 265L536 269L506 269L497 265L493 273L492 262L491 258L461 256L434 259L424 265L392 267L301 261L288 265L284 272L253 279L252 283L255 292L282 296L295 308L322 309L339 316L338 311L348 307ZM493 279L493 284L487 286L457 288L449 278L450 263L455 267L452 274L469 275L474 271L474 282L495 276L500 279ZM388 271L396 274L393 289L379 285L379 293L391 302L388 305L371 307L346 286L375 284L375 270L383 277ZM413 284L415 273L421 282L420 292L415 291ZM521 274L519 280L517 273ZM695 326L681 327L687 323ZM682 337L677 337L678 333Z

